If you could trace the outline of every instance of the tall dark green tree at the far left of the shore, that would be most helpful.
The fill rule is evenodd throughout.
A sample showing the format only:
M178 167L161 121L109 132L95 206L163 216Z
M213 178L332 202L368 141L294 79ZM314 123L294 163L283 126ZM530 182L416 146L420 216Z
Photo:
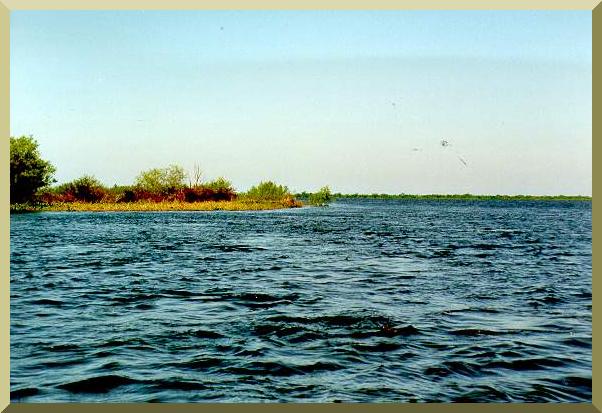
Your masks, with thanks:
M54 166L40 157L33 136L10 137L10 202L33 201L37 191L55 182Z

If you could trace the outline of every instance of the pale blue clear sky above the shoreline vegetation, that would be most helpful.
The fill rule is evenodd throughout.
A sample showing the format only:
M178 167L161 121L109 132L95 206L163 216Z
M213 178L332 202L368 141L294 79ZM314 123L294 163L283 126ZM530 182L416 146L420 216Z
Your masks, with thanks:
M591 34L591 11L13 11L10 130L59 183L591 195Z

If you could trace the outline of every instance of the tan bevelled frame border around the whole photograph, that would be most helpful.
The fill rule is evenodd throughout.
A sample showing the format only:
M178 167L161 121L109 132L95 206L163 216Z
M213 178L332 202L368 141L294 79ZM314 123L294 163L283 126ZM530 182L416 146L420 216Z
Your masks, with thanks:
M602 44L602 6L598 6L601 0L0 0L0 163L4 168L0 171L0 196L5 199L0 211L4 211L1 216L5 218L0 220L0 409L10 412L45 412L48 409L61 412L87 412L100 411L211 411L219 408L226 411L270 411L276 412L280 409L288 411L301 412L309 410L325 411L419 411L419 412L464 412L464 411L512 411L512 412L601 412L602 409L602 384L594 379L593 371L600 371L599 358L594 357L594 353L601 354L600 345L592 340L592 404L10 404L10 276L9 276L9 244L10 244L10 214L9 214L9 136L10 136L10 94L9 94L9 70L10 70L10 11L11 10L169 10L169 9L206 9L206 10L310 10L310 9L380 9L380 10L592 10L592 36L593 36L593 74L601 66L601 44ZM596 53L597 52L597 53ZM595 76L592 78L593 87L593 135L592 135L592 161L599 156L599 147L593 136L598 132L597 125L600 121L594 122L596 114L602 115L599 105L596 105L596 98L602 95L600 83L596 82ZM600 119L600 117L598 117ZM592 162L592 173L597 178L599 168ZM597 192L596 182L593 180L593 192ZM593 197L592 197L593 198ZM592 212L595 212L595 204L592 203ZM0 212L1 213L1 212ZM592 214L593 217L594 214ZM592 222L594 224L594 222ZM595 228L595 227L593 227ZM595 231L594 231L595 232ZM592 233L593 236L593 233ZM595 243L593 245L596 245ZM592 245L592 254L594 252ZM599 259L596 254L592 256L592 265L596 266ZM592 267L592 303L594 289L594 272ZM598 317L596 312L602 314L597 305L592 307L592 338L598 335L600 327L594 323ZM598 323L599 325L599 323Z

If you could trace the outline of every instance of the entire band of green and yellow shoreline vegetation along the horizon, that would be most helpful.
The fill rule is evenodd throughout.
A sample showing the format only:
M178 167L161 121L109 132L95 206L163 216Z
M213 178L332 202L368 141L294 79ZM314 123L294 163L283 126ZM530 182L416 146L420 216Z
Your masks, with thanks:
M38 143L31 136L10 138L11 212L28 211L212 211L260 210L299 207L286 186L261 182L240 196L232 183L219 177L202 182L195 166L188 186L186 174L178 165L153 168L140 173L132 186L105 187L94 176L84 175L55 187L54 166L43 160ZM326 206L336 198L418 199L418 200L571 200L591 201L588 196L531 195L410 195L410 194L332 194L325 186L316 193L302 192L298 198L310 205Z

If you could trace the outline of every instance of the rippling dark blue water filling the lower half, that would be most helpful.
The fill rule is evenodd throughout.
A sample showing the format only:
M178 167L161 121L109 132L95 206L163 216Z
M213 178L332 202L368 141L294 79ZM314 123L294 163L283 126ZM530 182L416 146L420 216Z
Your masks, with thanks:
M11 216L11 399L591 401L591 203Z

